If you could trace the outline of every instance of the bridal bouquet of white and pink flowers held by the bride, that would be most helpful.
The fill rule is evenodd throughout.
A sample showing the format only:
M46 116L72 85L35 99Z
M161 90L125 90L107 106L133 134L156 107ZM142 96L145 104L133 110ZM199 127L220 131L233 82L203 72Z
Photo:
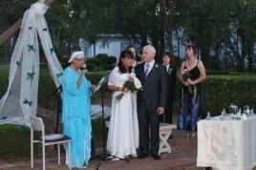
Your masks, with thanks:
M142 90L142 85L137 77L129 76L129 79L124 82L123 87L128 88L131 93L135 93L136 91ZM121 93L116 96L117 101L125 95L125 93Z

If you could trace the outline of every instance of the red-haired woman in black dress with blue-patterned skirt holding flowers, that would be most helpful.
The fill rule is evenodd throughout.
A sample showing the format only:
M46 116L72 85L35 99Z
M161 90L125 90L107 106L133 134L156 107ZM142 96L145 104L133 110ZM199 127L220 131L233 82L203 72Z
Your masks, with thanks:
M206 73L203 62L195 57L196 47L188 45L185 52L187 59L181 64L179 75L183 87L178 127L186 131L185 138L195 138L201 107L201 85L206 78Z

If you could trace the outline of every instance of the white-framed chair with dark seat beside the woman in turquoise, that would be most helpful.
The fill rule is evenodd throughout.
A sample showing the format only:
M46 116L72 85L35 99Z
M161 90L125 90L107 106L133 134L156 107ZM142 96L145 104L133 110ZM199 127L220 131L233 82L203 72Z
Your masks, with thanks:
M33 168L33 143L41 142L42 143L42 152L43 152L43 170L45 170L45 147L49 145L57 145L58 149L58 165L60 165L60 144L63 143L68 143L69 144L69 168L71 169L71 138L69 137L61 137L61 135L56 135L54 136L59 136L59 138L54 138L54 139L46 139L49 138L50 136L45 136L45 125L41 117L31 117L31 165ZM41 139L34 140L33 138L33 131L41 131L42 132L42 137ZM53 137L53 135L52 135Z

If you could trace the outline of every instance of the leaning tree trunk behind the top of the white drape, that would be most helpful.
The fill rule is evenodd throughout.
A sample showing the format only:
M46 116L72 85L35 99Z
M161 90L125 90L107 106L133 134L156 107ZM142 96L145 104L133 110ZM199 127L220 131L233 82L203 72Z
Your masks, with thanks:
M46 5L51 6L51 4L56 1L56 0L41 0L41 2L45 2ZM20 29L22 23L22 19L19 19L18 21L16 21L10 29L8 29L6 32L3 32L0 35L0 46L8 39L11 38L11 36L13 36L13 34L15 32L17 32Z

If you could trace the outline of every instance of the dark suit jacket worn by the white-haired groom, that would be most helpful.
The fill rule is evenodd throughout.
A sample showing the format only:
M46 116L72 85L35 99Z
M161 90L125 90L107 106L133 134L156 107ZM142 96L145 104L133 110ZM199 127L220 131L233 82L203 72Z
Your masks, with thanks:
M155 62L150 73L145 77L144 63L135 69L136 76L142 84L142 91L138 93L138 111L143 101L150 111L157 111L158 107L166 107L167 99L167 72L158 62Z

